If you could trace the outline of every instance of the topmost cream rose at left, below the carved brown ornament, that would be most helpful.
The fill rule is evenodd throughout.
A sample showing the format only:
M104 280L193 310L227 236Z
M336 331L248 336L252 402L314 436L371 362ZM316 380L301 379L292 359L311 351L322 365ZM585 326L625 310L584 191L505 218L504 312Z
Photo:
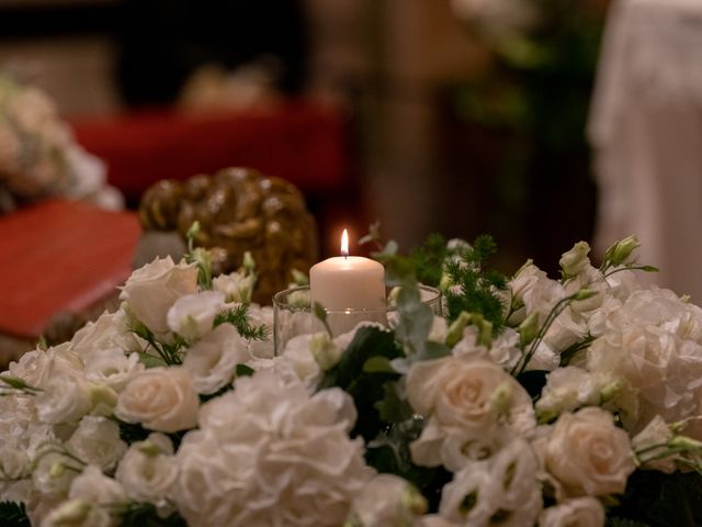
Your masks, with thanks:
M181 296L197 291L197 268L173 264L171 257L156 258L127 279L120 299L151 332L168 332L167 314Z

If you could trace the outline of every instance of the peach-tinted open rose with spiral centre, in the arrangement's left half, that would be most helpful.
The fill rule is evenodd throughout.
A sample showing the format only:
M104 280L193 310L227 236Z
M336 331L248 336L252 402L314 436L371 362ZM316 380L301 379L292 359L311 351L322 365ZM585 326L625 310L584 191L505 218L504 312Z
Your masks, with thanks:
M195 426L199 406L188 370L151 368L132 379L120 393L115 414L127 423L172 433Z

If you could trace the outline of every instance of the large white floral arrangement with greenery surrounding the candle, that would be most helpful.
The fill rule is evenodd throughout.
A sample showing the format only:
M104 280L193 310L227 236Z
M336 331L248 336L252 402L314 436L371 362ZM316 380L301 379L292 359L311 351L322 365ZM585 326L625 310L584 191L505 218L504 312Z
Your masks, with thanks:
M156 259L0 375L0 524L699 525L702 310L642 287L637 245L554 280L487 270L488 237L389 243L390 327L278 356L250 258Z

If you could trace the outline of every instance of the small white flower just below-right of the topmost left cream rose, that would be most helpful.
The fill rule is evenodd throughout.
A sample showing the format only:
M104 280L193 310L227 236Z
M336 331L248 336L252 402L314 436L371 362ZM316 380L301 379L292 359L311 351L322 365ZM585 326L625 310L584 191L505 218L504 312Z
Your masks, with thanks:
M224 295L217 291L185 294L168 310L166 319L171 332L193 343L212 332L215 317L224 307Z

